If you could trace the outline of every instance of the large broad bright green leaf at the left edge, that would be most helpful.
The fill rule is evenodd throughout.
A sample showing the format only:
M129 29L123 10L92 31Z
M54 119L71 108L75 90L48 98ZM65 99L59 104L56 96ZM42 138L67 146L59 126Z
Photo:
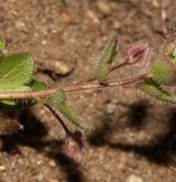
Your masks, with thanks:
M0 93L28 92L33 75L33 60L28 53L0 57Z

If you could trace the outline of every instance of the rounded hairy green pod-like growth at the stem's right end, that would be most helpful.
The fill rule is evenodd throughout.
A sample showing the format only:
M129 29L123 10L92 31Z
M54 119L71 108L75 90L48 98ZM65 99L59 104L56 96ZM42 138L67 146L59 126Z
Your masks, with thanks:
M152 63L151 73L158 84L172 86L176 83L176 67L167 57L156 57Z

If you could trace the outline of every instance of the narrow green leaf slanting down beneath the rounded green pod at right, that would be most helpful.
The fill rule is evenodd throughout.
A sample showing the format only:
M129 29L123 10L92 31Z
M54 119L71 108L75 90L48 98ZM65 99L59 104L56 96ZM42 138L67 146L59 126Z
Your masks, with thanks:
M146 79L138 83L136 87L158 100L176 104L172 95L166 90L163 90L160 85L152 79Z

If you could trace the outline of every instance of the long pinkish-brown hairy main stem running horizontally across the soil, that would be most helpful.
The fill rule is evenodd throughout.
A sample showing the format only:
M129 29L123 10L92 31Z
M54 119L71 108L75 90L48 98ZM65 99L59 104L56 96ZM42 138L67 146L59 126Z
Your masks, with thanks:
M142 81L146 78L148 74L138 75L130 78L124 78L120 81L106 82L105 84L99 81L94 82L85 82L79 84L73 84L68 86L61 86L57 88L50 88L38 92L21 92L21 93L0 93L0 99L44 99L46 97L52 96L58 89L64 89L66 93L73 92L86 92L86 90L95 90L95 89L103 89L108 87L117 87L117 86L127 86L133 84L135 82Z

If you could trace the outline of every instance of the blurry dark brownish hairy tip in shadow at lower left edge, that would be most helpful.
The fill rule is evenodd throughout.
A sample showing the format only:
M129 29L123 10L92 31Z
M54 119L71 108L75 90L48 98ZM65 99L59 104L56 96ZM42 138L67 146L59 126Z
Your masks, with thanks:
M16 120L0 118L0 136L7 136L23 129L23 126Z

